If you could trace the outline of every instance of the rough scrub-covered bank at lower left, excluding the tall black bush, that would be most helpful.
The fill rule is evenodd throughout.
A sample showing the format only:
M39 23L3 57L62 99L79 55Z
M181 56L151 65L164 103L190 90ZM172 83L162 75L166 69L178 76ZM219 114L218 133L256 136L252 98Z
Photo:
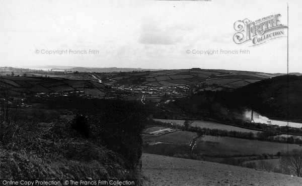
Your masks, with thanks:
M0 143L0 179L86 180L126 179L132 174L125 159L68 124L39 123ZM26 126L24 126L26 127ZM23 128L24 129L24 128Z

